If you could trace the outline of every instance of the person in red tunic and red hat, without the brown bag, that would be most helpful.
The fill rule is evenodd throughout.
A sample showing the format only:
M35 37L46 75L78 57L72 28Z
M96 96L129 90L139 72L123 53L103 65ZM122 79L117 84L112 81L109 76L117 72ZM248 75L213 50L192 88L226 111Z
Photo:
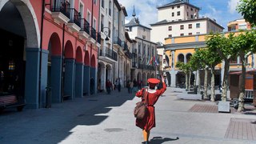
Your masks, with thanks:
M155 90L155 86L160 82L157 78L149 78L147 82L149 83L150 89L142 88L136 94L137 97L141 98L143 90L145 90L145 99L147 102L148 113L143 119L136 119L136 126L142 129L142 134L144 137L143 143L148 143L150 137L150 130L155 127L155 114L154 114L154 104L158 101L160 95L166 91L166 84L164 78L162 78L162 88L160 90ZM147 98L146 98L147 97Z

